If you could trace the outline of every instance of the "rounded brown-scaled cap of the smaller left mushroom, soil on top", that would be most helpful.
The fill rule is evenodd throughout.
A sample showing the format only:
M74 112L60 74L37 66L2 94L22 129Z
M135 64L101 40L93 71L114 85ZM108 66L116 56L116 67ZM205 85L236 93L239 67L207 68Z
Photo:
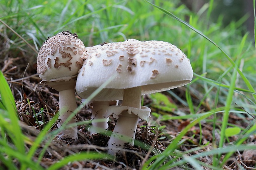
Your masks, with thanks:
M48 38L38 52L37 72L43 81L68 81L76 77L87 57L78 36L63 31Z

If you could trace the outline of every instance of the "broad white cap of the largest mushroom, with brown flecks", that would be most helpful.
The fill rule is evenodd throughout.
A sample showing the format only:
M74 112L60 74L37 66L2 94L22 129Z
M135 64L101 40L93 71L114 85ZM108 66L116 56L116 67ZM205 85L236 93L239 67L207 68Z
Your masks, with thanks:
M121 100L124 88L137 86L142 95L180 87L191 82L193 70L185 54L168 42L108 43L85 61L76 83L78 95L88 98L114 74L115 79L93 100Z

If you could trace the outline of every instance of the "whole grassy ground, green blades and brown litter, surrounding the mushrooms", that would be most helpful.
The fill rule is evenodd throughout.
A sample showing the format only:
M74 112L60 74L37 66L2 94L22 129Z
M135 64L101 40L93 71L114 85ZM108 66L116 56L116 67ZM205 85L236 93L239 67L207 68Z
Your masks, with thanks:
M254 166L243 153L253 151L256 142L255 38L245 30L247 16L225 27L223 16L213 22L215 5L210 0L195 13L176 0L1 1L0 167L218 170ZM104 153L104 141L86 133L88 106L78 109L81 140L59 143L55 139L58 95L39 85L36 57L47 37L62 30L76 32L85 46L130 38L162 40L190 58L192 83L143 96L143 104L153 111L152 119L139 123L136 135L144 143L137 141L134 151L126 150L138 157L118 160ZM163 102L156 101L159 98Z

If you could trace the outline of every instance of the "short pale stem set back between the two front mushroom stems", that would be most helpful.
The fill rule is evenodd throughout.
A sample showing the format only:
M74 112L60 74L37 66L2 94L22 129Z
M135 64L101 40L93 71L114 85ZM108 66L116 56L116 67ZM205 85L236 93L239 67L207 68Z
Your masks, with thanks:
M109 101L92 102L92 126L89 128L91 134L101 133L109 127L107 124L109 118L105 116L108 107Z

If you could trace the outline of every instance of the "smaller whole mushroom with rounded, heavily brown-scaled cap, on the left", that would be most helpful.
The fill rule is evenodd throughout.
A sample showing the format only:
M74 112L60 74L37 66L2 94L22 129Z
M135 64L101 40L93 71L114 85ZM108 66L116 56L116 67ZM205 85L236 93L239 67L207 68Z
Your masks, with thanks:
M48 38L37 57L37 72L42 82L59 92L60 127L77 108L75 86L78 70L87 57L83 42L76 33L63 31ZM41 83L42 83L41 82ZM66 123L75 123L73 117ZM63 130L62 138L77 139L77 128Z

